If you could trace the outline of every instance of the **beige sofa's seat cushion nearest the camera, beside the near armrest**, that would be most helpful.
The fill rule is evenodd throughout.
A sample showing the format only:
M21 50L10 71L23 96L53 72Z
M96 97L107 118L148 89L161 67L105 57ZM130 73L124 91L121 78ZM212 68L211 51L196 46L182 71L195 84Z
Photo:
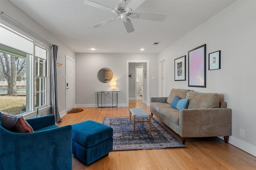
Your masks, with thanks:
M179 125L179 121L180 121L180 111L179 110L174 109L172 107L162 108L160 113L161 113L161 115L163 115L166 119L168 119L172 123Z

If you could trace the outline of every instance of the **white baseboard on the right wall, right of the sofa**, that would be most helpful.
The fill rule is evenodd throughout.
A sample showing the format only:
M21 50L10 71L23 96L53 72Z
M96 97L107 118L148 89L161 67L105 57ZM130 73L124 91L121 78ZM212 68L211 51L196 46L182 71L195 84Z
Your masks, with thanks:
M254 146L250 143L242 141L241 139L238 139L233 136L229 137L228 143L230 143L231 145L234 145L235 147L238 147L239 149L244 150L245 152L247 152L253 156L256 156L256 146Z

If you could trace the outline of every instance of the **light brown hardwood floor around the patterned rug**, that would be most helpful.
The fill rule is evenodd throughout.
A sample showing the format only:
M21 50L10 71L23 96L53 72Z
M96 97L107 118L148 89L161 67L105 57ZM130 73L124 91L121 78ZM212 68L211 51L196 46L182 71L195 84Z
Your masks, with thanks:
M104 117L129 116L129 108L150 108L142 100L130 100L129 107L83 108L80 113L66 114L58 126L86 120L102 123ZM153 116L172 135L170 128ZM218 137L188 138L185 148L112 151L108 156L86 166L74 156L72 170L255 170L256 157L240 150Z

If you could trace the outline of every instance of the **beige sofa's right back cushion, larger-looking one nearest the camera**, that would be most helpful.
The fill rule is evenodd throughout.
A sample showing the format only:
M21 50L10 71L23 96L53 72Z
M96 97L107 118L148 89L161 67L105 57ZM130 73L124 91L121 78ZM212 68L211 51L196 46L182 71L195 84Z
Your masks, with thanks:
M219 108L220 98L217 93L187 92L188 109Z

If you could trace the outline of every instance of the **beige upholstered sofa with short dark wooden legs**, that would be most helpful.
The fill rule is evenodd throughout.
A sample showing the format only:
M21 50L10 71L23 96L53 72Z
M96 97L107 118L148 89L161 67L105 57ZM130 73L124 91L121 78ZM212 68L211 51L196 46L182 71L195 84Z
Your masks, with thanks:
M188 99L187 109L170 106L174 96ZM197 93L185 89L172 89L168 97L150 99L151 115L155 115L180 137L185 144L187 137L224 136L228 143L231 135L231 109L220 102L217 93Z

